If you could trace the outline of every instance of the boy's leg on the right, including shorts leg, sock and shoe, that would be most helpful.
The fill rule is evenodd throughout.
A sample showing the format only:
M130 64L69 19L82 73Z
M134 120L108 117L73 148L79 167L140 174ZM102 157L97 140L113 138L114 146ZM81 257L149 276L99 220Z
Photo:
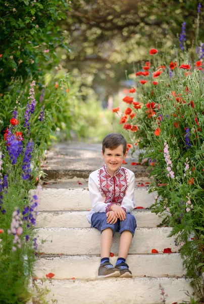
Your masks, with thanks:
M120 221L120 247L116 268L120 270L120 277L131 278L132 273L129 271L128 264L125 263L127 258L132 238L136 229L136 220L132 214L127 213L126 219Z

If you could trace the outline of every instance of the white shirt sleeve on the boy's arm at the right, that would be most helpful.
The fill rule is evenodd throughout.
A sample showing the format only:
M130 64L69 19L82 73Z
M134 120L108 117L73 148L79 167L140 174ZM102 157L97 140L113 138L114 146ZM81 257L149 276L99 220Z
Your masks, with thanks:
M135 175L132 174L130 176L130 181L128 184L128 187L125 192L125 196L123 198L123 201L121 203L121 207L126 209L126 213L130 213L133 211L135 207L135 201L134 201L134 189L135 189Z

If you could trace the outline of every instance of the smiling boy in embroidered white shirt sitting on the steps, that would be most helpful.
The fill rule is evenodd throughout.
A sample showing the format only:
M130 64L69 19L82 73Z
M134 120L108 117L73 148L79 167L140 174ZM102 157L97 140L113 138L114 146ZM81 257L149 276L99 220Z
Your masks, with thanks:
M100 267L98 277L130 278L132 273L125 263L136 229L136 220L130 212L135 207L132 171L121 167L127 155L126 139L119 133L110 133L103 140L102 155L105 164L89 175L88 188L92 210L87 214L91 227L101 233ZM120 247L115 267L109 256L112 238L119 232Z

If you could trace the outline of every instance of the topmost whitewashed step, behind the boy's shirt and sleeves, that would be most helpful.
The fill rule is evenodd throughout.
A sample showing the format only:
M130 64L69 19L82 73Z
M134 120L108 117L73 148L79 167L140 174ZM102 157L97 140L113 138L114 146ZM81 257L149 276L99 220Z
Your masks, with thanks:
M34 194L31 191L31 195ZM136 206L148 208L153 202L155 194L148 194L146 188L135 189ZM87 188L79 189L42 189L39 211L46 210L86 210L91 209L91 202Z

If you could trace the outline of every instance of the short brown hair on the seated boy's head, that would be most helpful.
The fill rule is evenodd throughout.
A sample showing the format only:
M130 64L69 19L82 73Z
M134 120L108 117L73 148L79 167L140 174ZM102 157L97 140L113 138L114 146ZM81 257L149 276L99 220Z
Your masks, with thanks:
M102 144L103 153L105 153L105 148L110 150L116 149L120 144L123 145L123 154L126 153L127 141L125 137L119 133L110 133L105 136Z

